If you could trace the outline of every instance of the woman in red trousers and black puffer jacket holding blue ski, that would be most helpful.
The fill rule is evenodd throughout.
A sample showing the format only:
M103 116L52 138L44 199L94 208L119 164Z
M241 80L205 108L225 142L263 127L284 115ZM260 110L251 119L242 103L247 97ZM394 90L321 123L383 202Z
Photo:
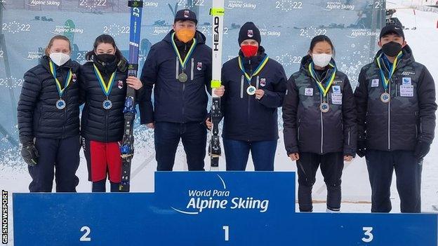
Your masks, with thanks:
M86 60L89 62L81 66L79 78L85 102L81 135L88 180L93 182L93 192L105 192L108 176L111 191L119 191L126 86L140 90L142 83L136 77L128 77L128 62L110 35L102 34L95 39Z

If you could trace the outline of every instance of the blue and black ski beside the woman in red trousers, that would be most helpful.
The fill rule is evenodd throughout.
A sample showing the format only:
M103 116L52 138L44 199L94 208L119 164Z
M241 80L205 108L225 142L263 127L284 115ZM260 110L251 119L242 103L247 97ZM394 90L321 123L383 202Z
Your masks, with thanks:
M143 1L128 1L128 7L131 8L128 76L136 77L138 71L138 49L140 46ZM131 182L131 161L134 155L133 124L135 113L135 90L127 86L124 107L124 137L120 147L123 165L121 168L121 183L119 186L119 191L129 191L129 184Z

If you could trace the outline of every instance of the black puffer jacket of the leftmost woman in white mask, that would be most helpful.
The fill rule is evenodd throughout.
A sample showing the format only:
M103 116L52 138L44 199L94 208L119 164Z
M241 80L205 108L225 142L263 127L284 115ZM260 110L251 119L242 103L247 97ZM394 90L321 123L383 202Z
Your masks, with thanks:
M34 137L65 139L79 135L79 63L69 60L56 67L58 81L65 83L69 69L73 77L62 95L66 107L58 109L60 99L55 78L51 74L49 58L41 57L39 65L25 73L20 100L18 101L18 131L20 142L27 144Z

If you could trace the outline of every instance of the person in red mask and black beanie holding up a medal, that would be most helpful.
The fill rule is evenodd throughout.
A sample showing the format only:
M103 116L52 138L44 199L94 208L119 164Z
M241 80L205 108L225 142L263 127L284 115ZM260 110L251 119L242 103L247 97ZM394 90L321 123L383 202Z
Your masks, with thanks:
M239 56L225 62L221 98L227 170L245 170L251 151L257 171L273 171L277 149L277 108L286 93L286 73L260 46L259 29L246 22L239 32ZM207 121L211 127L211 122Z

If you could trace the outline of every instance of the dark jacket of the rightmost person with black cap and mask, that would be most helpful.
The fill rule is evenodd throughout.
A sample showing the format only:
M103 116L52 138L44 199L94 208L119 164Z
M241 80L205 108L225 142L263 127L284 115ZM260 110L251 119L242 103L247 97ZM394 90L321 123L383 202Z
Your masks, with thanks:
M380 95L385 90L376 62L381 54L382 50L372 63L361 69L359 86L354 92L359 135L366 139L367 149L381 151L413 151L418 141L431 144L437 104L430 72L415 62L411 48L405 46L388 88L390 103L383 103Z

